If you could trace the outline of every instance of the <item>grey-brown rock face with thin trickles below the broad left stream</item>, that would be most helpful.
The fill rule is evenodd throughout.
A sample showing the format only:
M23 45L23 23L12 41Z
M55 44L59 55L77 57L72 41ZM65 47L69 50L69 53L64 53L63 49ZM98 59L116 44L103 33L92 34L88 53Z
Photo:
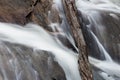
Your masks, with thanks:
M66 80L50 52L0 42L0 80Z

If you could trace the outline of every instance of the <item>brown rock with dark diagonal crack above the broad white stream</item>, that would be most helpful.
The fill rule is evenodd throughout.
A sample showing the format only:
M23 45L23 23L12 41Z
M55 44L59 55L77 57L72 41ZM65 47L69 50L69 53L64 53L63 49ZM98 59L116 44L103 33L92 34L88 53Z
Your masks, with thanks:
M0 22L25 25L33 22L49 31L48 25L60 23L53 0L1 0Z

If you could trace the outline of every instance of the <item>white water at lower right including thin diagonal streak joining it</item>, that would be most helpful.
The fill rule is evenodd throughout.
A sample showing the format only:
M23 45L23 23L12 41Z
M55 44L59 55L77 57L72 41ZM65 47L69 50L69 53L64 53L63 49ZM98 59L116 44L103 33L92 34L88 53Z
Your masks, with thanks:
M99 68L100 70L102 70L102 72L99 72L99 74L105 80L116 80L114 76L120 78L120 65L112 60L112 58L110 57L108 52L104 49L102 44L99 42L95 34L93 32L91 32L91 34L95 38L97 45L100 51L102 52L102 54L104 54L106 60L102 61L102 60L89 57L90 63L94 65L95 67Z

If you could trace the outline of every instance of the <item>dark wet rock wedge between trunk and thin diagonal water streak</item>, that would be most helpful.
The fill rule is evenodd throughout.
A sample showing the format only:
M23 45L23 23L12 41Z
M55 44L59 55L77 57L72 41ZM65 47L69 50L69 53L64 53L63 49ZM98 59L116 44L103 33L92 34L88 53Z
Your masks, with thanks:
M83 26L83 33L88 47L89 56L95 57L100 60L105 60L105 56L100 50L95 38L91 34L90 29L87 28L85 25Z

